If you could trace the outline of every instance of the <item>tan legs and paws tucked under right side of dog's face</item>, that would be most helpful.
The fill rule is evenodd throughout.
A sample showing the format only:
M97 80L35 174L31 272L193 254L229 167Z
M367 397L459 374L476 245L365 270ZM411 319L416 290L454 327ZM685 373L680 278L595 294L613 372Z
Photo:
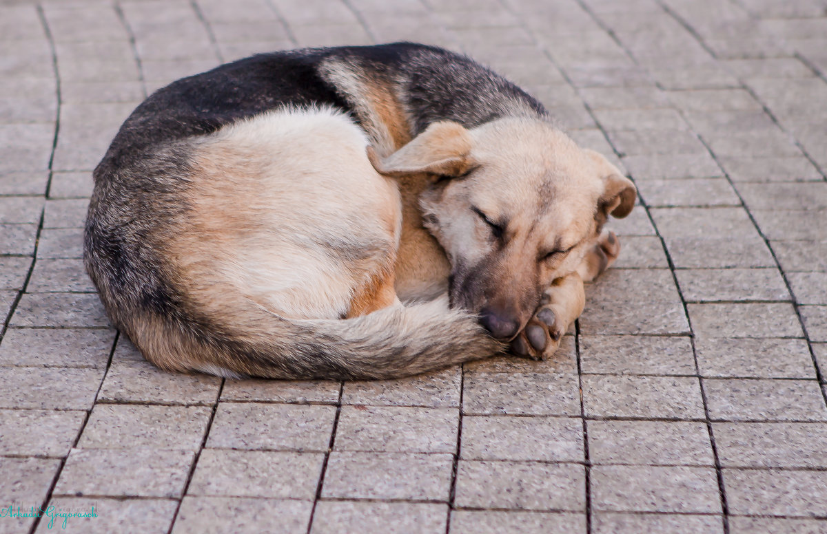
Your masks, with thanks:
M592 281L614 263L620 241L614 232L604 230L594 248L586 254L577 271L557 278L543 291L540 306L511 347L519 356L545 360L560 347L563 335L583 313L586 305L584 281Z

